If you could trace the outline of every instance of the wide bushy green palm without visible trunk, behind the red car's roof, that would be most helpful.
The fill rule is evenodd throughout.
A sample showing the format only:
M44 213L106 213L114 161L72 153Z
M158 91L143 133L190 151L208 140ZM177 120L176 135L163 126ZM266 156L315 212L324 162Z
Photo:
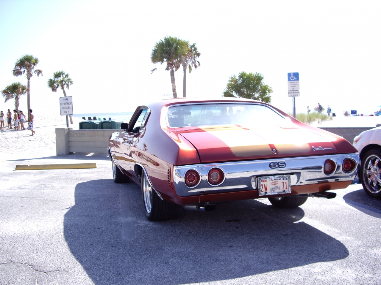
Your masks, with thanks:
M230 77L223 92L223 97L240 97L270 103L272 89L263 83L263 75L260 73L246 73L242 71L238 78Z

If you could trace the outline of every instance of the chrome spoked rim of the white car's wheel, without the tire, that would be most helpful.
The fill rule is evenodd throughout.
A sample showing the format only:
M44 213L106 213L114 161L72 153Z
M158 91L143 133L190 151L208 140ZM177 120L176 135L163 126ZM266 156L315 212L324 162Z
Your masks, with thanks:
M376 155L367 158L364 164L364 182L373 194L381 192L381 160Z

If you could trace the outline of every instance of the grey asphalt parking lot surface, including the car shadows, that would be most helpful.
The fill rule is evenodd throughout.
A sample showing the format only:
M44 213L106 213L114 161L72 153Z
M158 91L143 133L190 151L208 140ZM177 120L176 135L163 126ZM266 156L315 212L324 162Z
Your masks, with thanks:
M97 168L15 170L64 163ZM0 284L381 284L381 201L361 184L150 222L107 155L7 156L0 181Z

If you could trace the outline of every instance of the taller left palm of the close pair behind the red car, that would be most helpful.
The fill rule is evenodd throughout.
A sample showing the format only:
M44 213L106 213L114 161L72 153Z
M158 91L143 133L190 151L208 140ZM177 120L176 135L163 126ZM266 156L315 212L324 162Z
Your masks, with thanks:
M165 36L164 40L155 43L151 52L151 62L160 64L166 63L165 70L170 70L173 98L177 97L176 83L174 81L174 71L180 67L180 59L187 50L186 43L173 36ZM156 68L151 70L151 73Z

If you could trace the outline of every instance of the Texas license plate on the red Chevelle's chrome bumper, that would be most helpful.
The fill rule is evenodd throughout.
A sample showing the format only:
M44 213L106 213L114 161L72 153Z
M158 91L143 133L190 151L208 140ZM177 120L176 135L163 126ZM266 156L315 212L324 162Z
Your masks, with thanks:
M258 177L259 196L291 193L290 175Z

